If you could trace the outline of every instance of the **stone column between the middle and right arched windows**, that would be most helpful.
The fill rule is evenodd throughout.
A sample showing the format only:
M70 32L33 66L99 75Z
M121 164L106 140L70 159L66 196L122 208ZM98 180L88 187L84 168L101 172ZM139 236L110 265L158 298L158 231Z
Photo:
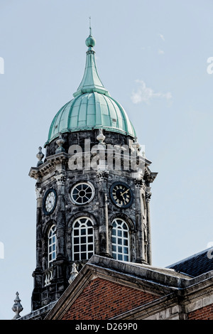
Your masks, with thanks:
M109 257L109 226L107 208L107 171L97 171L99 182L99 254Z

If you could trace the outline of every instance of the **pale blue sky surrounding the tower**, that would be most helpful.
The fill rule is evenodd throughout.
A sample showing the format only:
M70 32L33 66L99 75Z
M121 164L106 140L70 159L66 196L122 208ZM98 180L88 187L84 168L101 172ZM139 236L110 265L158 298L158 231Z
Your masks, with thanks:
M35 181L28 172L82 80L89 16L102 82L158 172L153 265L213 242L212 13L210 0L0 0L0 319L13 318L16 291L21 314L31 311Z

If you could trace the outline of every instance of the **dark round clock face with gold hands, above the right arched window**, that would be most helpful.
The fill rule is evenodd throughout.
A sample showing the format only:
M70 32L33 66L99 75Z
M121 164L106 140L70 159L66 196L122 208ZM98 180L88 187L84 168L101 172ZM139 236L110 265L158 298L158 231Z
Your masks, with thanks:
M129 208L133 202L133 192L129 185L123 182L113 183L110 187L112 202L120 208Z

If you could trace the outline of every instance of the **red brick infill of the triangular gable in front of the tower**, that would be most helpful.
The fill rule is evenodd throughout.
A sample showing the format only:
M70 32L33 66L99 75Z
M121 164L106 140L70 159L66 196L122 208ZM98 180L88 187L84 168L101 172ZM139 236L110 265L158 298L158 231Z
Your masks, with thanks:
M96 278L84 288L62 320L107 320L158 298L145 291Z

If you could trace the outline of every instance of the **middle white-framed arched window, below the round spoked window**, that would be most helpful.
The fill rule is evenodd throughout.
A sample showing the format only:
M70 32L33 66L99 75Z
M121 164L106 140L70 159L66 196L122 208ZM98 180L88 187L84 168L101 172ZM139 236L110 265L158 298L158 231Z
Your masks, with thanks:
M72 230L72 259L86 260L94 254L94 233L92 220L80 217L75 220Z

